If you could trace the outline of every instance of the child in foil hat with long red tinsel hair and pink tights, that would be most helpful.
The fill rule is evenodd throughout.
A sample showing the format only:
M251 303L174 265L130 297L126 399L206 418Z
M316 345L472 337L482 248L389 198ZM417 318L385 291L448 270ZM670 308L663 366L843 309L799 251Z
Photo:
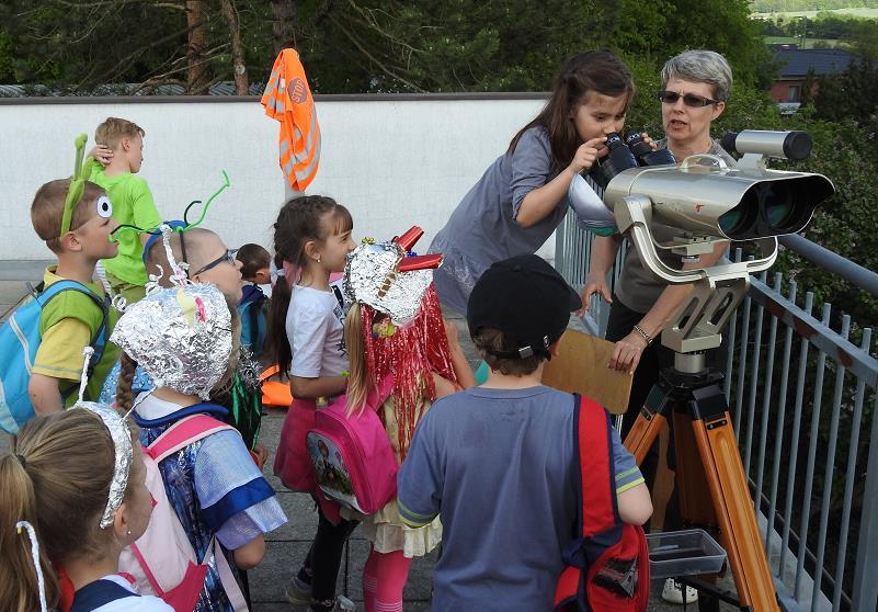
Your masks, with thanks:
M443 325L433 288L432 268L442 256L407 257L422 234L414 227L388 242L361 245L347 256L343 281L353 302L344 324L351 359L347 408L368 409L369 390L394 376L378 416L399 463L433 401L474 384L454 328ZM363 570L366 611L401 610L411 559L440 543L442 524L434 520L420 529L404 526L394 499L362 518L362 529L372 542Z

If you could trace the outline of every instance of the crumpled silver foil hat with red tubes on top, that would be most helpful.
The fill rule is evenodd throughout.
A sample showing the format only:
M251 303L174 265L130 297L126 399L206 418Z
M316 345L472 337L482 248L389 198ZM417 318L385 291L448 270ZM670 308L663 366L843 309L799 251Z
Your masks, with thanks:
M395 326L404 326L418 316L432 270L442 264L442 254L411 252L424 230L412 227L386 242L365 239L347 254L343 286L347 297L390 316Z

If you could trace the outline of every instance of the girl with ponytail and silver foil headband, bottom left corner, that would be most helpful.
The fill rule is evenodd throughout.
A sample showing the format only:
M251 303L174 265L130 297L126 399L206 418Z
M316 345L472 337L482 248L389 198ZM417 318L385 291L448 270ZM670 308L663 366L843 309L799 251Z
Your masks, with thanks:
M87 350L87 355L90 352ZM0 456L0 608L172 612L119 574L123 548L152 511L132 428L112 408L79 401L34 418Z

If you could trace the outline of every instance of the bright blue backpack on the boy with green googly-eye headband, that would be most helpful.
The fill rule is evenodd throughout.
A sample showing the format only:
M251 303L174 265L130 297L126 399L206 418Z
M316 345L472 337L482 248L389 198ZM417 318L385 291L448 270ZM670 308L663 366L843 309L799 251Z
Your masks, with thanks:
M31 369L36 359L36 351L43 341L39 333L39 318L43 315L43 307L65 291L78 291L88 295L103 314L101 326L91 344L94 354L89 361L89 374L104 353L110 308L106 298L76 281L57 281L42 293L34 292L33 299L19 307L0 327L0 429L7 433L18 433L21 426L34 416L27 384L31 381Z

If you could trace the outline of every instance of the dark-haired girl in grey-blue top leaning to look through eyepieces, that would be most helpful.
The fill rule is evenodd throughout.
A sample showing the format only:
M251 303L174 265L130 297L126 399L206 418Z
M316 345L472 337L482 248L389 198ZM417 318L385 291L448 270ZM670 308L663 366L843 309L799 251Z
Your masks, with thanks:
M563 65L551 98L457 205L430 245L445 262L434 281L442 305L465 315L476 281L493 262L532 254L567 214L571 180L606 155L634 98L628 67L609 50Z

